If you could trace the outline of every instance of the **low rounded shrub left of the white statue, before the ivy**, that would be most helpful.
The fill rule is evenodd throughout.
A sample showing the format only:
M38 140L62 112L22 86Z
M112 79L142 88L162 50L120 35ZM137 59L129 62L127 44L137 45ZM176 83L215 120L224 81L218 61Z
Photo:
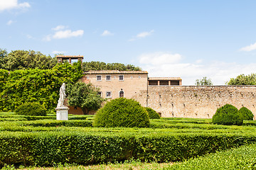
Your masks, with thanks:
M46 115L46 108L40 103L23 103L16 109L18 115Z

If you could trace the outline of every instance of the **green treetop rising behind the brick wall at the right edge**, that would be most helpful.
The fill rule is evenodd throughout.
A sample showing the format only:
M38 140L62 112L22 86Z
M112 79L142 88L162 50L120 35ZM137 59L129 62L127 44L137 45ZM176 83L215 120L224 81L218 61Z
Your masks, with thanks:
M238 77L231 78L226 84L228 85L256 85L256 74L240 74Z

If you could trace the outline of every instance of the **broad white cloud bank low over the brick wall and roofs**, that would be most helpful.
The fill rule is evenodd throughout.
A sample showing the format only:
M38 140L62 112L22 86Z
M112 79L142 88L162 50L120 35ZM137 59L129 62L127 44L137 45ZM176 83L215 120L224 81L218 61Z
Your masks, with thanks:
M168 57L169 58L169 57ZM182 62L180 58L166 60L166 62L153 62L158 59L157 55L148 58L150 62L139 57L140 67L149 72L149 77L181 77L183 85L195 85L196 79L208 77L214 85L224 85L230 78L240 74L255 72L256 63L238 64L235 62L210 61L209 63ZM159 58L159 60L164 57Z

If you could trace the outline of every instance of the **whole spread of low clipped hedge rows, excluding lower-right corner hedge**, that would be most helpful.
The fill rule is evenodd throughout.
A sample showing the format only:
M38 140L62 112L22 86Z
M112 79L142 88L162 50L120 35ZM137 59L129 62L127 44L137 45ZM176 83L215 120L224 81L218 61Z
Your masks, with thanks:
M213 125L210 119L151 120L161 128L92 128L92 115L69 115L68 121L3 120L27 117L32 118L0 113L0 167L98 164L129 159L175 162L256 142L255 127ZM73 117L81 120L70 120Z

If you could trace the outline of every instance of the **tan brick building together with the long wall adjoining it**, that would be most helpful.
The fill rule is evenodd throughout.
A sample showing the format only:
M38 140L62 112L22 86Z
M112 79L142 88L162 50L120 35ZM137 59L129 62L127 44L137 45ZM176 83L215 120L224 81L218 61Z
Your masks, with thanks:
M117 70L85 72L82 81L100 88L102 98L133 98L165 118L212 118L227 103L256 113L256 86L181 86L180 77ZM70 107L69 113L82 110Z

